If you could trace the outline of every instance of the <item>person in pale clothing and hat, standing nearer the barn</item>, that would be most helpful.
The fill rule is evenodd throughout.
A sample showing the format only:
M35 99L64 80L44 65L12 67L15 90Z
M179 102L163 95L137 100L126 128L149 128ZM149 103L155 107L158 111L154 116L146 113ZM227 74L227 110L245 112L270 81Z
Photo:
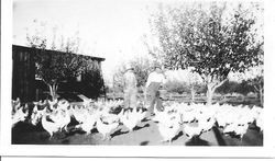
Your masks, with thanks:
M133 67L127 66L127 71L123 74L123 93L124 93L124 110L136 108L138 104L138 81L133 72Z

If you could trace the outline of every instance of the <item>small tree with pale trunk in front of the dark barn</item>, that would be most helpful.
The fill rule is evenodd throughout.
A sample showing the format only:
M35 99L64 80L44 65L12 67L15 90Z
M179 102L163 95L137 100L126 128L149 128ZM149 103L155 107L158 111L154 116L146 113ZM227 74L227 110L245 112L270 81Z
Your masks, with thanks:
M48 87L50 94L55 100L57 99L58 84L62 81L72 80L79 76L84 70L85 60L80 56L73 54L78 51L78 36L64 41L65 38L62 35L59 46L55 43L55 38L48 45L50 41L38 30L36 28L34 34L26 34L28 46L37 48L35 56L36 77ZM56 37L55 28L53 28L53 37ZM54 50L46 51L46 49ZM58 51L65 54L61 55Z

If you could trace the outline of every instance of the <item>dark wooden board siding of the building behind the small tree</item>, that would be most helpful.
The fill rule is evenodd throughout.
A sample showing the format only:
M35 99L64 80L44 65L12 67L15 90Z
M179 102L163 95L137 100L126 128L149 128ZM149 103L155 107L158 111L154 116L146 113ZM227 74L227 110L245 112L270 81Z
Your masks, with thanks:
M30 101L38 101L41 99L47 97L45 93L48 91L47 87L42 82L35 80L35 56L41 55L43 59L46 61L56 61L57 58L63 57L66 53L56 51L56 50L42 50L36 48L30 48L24 46L12 46L12 99L15 100L20 97L22 102ZM70 54L73 57L76 54ZM88 94L87 96L97 96L98 94L103 93L102 89L105 89L105 84L102 87L96 85L96 89L90 90L88 85L91 84L100 84L98 81L103 82L102 70L101 70L101 61L103 58L91 57L79 55L84 59L88 60L87 69L88 72L91 73L91 79L82 82L82 78L86 78L84 74L81 78L81 82L77 82L81 85L75 84L74 88L70 84L61 83L59 92L81 92L82 90ZM98 77L99 72L99 77ZM64 87L64 88L63 88ZM70 87L70 88L66 88ZM80 88L80 89L79 89ZM62 91L64 89L64 91ZM70 91L67 91L69 89ZM73 90L73 91L72 91ZM100 93L94 93L89 91L97 91Z

